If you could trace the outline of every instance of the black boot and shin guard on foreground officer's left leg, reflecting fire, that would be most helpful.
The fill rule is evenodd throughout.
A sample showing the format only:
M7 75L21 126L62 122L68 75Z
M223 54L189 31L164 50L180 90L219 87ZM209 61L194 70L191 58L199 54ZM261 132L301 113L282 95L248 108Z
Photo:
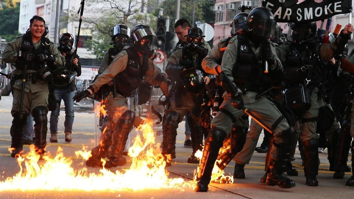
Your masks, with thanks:
M205 139L203 157L200 160L197 183L194 187L194 191L208 191L211 172L225 137L226 132L221 129L212 128L210 130L209 136Z

